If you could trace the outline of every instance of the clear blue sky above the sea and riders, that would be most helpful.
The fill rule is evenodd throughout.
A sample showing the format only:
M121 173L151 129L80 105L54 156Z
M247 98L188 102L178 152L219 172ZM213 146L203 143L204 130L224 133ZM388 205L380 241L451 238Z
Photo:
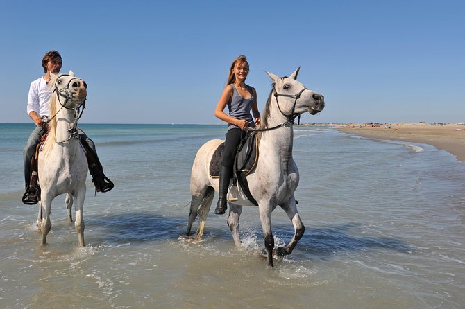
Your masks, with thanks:
M32 2L32 3L31 3ZM465 1L3 1L0 123L28 123L28 87L56 49L88 88L81 123L221 123L230 63L264 109L288 76L323 94L302 122L465 121Z

